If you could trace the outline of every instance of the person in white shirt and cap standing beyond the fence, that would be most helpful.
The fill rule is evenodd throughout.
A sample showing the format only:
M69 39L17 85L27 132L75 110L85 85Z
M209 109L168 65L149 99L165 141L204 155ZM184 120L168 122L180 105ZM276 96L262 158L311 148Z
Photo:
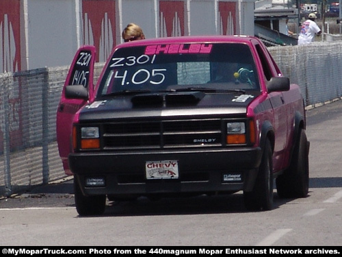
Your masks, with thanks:
M302 23L302 29L298 36L298 45L309 44L315 40L315 34L321 34L321 29L315 23L316 14L308 14L308 20Z

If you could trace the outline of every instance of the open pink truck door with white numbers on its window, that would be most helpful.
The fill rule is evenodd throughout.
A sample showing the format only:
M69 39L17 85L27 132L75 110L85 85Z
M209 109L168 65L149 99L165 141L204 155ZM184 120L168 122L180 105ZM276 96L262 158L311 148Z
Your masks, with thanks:
M64 172L72 175L68 166L68 154L70 153L70 136L73 130L75 113L88 101L94 99L94 62L96 49L94 46L83 46L78 49L68 71L66 82L62 90L60 103L57 108L56 133L60 157L62 158ZM82 85L88 89L88 99L68 99L66 86Z

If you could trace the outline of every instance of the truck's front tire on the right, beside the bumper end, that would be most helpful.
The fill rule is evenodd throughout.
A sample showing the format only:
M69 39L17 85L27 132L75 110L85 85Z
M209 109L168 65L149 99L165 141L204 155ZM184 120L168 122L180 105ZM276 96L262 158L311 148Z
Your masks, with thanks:
M262 158L253 190L244 191L247 210L272 210L273 207L272 147L268 139L265 142Z

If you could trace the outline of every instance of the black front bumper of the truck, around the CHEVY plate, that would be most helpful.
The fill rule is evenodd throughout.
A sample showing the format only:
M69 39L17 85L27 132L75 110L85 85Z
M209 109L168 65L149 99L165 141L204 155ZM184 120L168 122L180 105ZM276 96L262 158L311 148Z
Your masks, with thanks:
M259 147L191 150L74 153L68 160L84 195L150 195L252 191L261 163ZM146 162L177 160L178 179L146 180ZM228 175L237 180L227 181ZM104 186L86 186L104 178Z

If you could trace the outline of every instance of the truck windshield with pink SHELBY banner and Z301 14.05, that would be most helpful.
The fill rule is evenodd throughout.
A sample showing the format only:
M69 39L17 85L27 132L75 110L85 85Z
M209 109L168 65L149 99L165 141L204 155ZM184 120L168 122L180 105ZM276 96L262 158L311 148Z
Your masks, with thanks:
M114 52L98 97L187 88L260 90L249 47L238 43L124 47Z

